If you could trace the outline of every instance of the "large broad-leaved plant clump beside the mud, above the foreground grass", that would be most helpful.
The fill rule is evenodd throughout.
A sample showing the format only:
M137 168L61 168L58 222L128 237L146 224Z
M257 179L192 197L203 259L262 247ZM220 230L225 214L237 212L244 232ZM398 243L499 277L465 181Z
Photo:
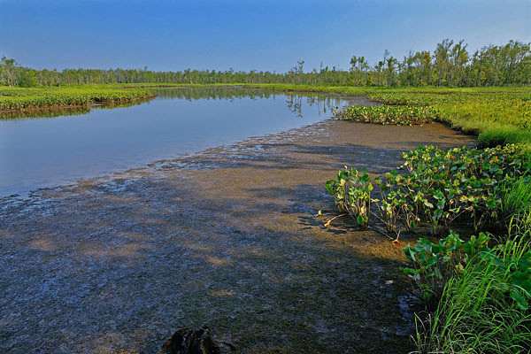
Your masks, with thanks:
M423 226L432 235L441 235L464 222L479 230L504 222L503 194L512 183L527 179L523 176L531 169L514 144L448 151L420 146L402 158L405 173L391 171L372 180L366 169L345 167L336 180L327 181L339 211L363 227L373 217L389 232L414 232ZM371 194L374 187L380 190L379 198Z

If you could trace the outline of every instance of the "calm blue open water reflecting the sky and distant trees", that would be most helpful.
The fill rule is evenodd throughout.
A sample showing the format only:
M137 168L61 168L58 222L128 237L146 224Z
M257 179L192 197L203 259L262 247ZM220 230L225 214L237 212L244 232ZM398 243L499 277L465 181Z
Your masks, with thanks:
M0 117L0 196L302 127L346 104L339 97L254 89L157 92L128 107Z

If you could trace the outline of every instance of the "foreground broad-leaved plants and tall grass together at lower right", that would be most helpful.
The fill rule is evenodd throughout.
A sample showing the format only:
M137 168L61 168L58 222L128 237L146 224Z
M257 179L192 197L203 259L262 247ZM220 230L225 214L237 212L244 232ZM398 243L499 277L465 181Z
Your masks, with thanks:
M381 225L396 237L402 231L429 235L404 248L412 266L401 268L430 312L417 318L418 352L474 352L485 341L499 352L531 348L528 148L420 146L402 158L402 171L382 178L345 167L326 188L339 212L361 227ZM453 229L479 235L463 241ZM496 319L496 313L505 317ZM494 335L486 340L489 331Z

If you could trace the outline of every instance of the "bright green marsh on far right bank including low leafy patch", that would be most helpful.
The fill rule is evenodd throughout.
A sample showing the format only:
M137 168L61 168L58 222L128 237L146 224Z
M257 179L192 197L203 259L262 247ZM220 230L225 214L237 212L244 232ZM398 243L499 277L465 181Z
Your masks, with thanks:
M412 125L442 121L466 133L479 135L482 146L531 142L529 89L349 89L382 106L336 110L339 119L366 123Z

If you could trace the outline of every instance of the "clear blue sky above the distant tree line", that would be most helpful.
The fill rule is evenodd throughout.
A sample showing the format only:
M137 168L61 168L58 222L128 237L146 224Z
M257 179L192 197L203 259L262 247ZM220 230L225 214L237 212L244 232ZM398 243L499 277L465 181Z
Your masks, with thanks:
M0 0L0 55L37 69L346 69L443 38L531 42L531 0Z

